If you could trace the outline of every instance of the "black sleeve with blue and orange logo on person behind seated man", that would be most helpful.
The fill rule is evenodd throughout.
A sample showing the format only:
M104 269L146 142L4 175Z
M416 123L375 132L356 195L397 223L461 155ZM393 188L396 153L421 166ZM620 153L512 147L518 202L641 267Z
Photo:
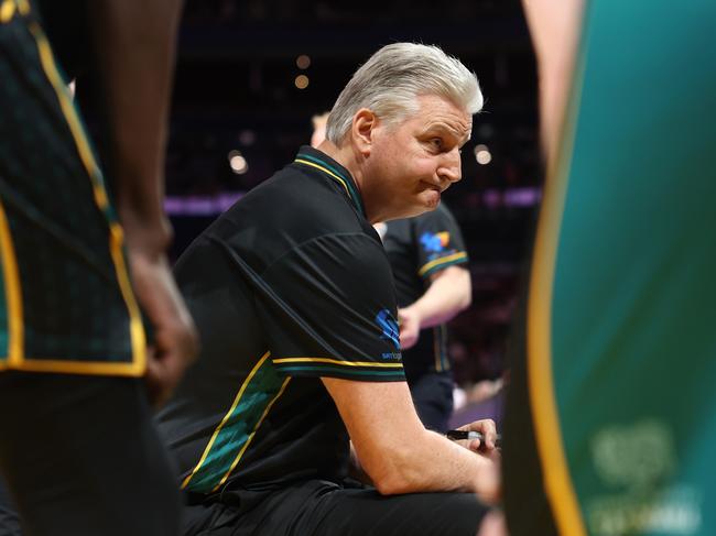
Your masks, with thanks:
M453 264L468 262L465 241L453 215L442 205L413 220L417 247L417 275L428 278Z

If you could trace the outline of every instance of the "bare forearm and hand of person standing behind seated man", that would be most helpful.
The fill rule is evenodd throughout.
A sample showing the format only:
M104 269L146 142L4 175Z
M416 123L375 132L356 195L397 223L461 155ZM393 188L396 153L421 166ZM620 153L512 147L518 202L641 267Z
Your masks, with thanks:
M452 320L469 307L473 299L470 273L463 266L447 266L431 274L431 284L420 299L398 310L400 347L408 350L420 337L420 330Z

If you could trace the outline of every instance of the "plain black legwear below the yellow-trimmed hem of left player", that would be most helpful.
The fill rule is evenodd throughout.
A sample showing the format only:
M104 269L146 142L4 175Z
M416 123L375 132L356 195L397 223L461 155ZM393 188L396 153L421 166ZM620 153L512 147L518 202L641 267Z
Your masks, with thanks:
M26 534L177 534L176 477L141 380L8 371L0 407L0 475ZM12 506L0 516L17 528Z

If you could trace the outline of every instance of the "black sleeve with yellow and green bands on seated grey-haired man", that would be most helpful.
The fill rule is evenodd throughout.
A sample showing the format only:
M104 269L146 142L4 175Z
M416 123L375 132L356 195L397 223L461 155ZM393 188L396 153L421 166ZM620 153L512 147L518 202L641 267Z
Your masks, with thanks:
M263 274L259 299L271 360L292 376L404 381L390 265L362 233L294 248Z

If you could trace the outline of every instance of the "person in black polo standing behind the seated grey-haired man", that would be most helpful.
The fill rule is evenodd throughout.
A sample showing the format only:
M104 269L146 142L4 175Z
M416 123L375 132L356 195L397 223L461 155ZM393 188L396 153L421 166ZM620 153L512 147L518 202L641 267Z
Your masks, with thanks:
M453 413L447 326L471 302L463 236L447 207L376 226L393 273L400 347L415 409L426 428L446 431Z

